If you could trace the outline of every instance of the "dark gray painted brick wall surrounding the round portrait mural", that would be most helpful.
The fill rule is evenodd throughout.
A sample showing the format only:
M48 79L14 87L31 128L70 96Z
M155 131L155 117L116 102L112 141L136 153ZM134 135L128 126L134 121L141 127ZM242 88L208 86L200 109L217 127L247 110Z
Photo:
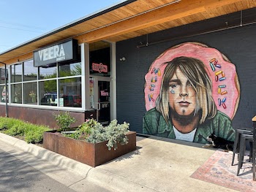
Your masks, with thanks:
M256 9L244 11L244 23L255 20L255 12ZM240 12L237 12L233 15L148 34L148 47L137 47L140 42L146 43L146 36L118 42L116 44L118 121L120 123L127 121L132 131L142 133L142 119L146 112L144 76L149 66L157 56L173 45L182 42L200 42L216 48L236 65L241 85L241 99L236 116L233 118L233 127L251 127L252 117L256 115L256 24L240 27L239 17ZM192 35L228 27L231 24L239 27ZM163 41L163 39L170 40ZM122 57L126 60L119 61Z

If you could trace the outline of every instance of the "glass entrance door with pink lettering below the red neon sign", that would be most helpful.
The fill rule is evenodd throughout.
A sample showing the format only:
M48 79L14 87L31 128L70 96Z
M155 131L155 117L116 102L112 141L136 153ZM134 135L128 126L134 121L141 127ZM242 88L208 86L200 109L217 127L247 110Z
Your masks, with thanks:
M97 110L97 121L102 125L110 123L110 78L90 77L91 108Z

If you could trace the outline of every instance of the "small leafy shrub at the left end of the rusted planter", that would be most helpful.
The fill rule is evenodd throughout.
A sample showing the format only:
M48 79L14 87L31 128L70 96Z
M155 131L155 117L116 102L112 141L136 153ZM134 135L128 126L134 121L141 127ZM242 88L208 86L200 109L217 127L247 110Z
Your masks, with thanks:
M75 118L72 118L70 112L59 112L59 114L53 113L53 116L59 126L60 131L67 131L70 129L70 125L75 123Z

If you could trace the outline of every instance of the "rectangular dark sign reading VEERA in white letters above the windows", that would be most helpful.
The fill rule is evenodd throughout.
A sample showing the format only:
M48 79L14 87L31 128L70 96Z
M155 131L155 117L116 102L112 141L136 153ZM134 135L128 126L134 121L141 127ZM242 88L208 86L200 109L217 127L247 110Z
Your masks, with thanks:
M59 45L45 47L34 52L34 66L47 66L56 62L68 61L76 58L78 42L71 39Z

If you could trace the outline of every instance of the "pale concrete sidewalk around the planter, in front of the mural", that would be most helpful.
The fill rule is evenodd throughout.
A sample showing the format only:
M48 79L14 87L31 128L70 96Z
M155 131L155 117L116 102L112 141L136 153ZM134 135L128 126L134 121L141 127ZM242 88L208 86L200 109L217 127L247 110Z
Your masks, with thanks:
M74 191L233 191L190 177L215 150L159 137L137 137L137 147L94 168L0 134L2 150Z

